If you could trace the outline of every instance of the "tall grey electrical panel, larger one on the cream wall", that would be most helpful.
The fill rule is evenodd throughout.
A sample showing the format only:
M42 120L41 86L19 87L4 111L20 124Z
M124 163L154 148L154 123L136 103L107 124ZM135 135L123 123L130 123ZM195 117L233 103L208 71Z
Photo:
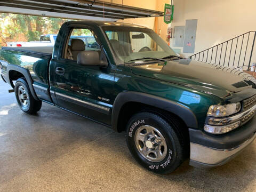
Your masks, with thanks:
M186 20L183 53L194 53L197 19Z

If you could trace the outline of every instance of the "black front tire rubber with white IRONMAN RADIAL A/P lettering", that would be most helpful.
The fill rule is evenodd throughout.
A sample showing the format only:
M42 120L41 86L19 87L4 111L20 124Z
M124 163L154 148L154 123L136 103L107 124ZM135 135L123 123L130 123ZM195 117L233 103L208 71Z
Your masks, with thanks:
M156 114L149 112L141 112L132 116L129 122L127 123L126 127L126 142L133 157L138 161L138 163L140 163L146 169L159 174L170 173L177 169L177 167L179 167L180 164L183 162L186 154L185 149L183 149L183 139L182 137L179 137L180 134L178 134L176 131L179 128L179 122L177 121L177 119L172 117L170 117L168 120L170 123L167 123L165 119ZM146 127L154 127L155 129L157 129L162 134L162 137L164 137L166 141L165 146L167 147L167 154L165 158L163 155L162 158L164 159L162 159L159 162L149 161L151 159L148 159L147 157L145 158L145 156L141 154L139 149L137 149L138 143L142 142L137 142L136 146L135 134L137 134L137 130L143 129L142 127L145 127L145 125ZM147 135L147 131L143 131L145 135ZM141 134L142 131L139 133ZM150 134L151 133L149 132L148 135ZM146 136L145 138L149 138L149 136ZM146 142L144 145L146 148L148 147L146 146ZM154 145L157 146L157 144ZM159 144L159 146L160 145L161 144ZM153 147L153 149L154 148L156 149L157 147ZM152 150L151 148L147 148L147 150L148 149ZM160 149L160 147L158 147L158 149ZM154 154L151 156L154 157Z

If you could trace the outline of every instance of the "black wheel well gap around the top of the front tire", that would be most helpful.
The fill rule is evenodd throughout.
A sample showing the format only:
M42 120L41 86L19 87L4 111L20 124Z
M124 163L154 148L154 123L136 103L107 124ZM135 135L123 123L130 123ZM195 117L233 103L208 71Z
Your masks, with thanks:
M189 154L190 140L189 140L188 127L186 123L179 116L171 113L170 111L166 111L150 105L145 105L139 102L127 102L122 106L121 110L119 111L117 131L118 132L125 131L126 124L129 121L129 119L134 114L139 113L141 111L148 111L150 113L157 114L162 118L164 118L165 121L167 121L168 123L172 123L173 120L177 121L179 125L179 130L176 130L176 131L180 135L180 137L183 139L184 141L183 145L187 153Z

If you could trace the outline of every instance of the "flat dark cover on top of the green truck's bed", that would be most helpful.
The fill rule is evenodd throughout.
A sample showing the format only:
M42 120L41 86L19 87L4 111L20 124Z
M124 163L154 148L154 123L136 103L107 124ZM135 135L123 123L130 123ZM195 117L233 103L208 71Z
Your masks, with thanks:
M53 46L39 46L39 47L2 47L3 50L21 51L34 54L52 55Z

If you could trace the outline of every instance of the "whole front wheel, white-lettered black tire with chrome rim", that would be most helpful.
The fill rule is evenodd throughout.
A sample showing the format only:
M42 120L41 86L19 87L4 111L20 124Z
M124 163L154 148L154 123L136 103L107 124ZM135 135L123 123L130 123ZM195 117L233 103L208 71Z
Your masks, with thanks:
M170 173L183 162L183 141L176 132L178 122L167 123L153 113L141 112L127 123L126 142L133 157L146 169Z

